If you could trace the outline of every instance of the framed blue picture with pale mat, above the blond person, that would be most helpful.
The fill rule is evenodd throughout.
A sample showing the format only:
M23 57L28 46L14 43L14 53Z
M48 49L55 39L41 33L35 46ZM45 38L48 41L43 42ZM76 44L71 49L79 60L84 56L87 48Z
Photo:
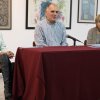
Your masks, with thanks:
M78 0L79 23L94 23L97 15L98 0Z

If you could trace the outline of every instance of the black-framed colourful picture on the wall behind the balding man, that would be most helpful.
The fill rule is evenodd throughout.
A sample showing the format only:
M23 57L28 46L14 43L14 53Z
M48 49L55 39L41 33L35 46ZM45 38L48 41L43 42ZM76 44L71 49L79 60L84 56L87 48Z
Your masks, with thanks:
M59 20L67 29L71 29L72 0L26 0L26 29L34 29L41 20L42 3L52 1L58 4L60 9Z

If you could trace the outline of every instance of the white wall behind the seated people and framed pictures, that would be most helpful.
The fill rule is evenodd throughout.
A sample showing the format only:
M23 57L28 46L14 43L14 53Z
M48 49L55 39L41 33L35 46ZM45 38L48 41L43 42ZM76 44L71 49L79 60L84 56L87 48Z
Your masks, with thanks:
M100 0L98 0L100 5ZM71 29L66 32L82 42L87 37L88 29L94 27L95 24L77 23L78 0L72 0L72 20ZM100 7L98 8L100 13ZM1 30L7 47L16 53L18 47L32 47L34 40L34 30L25 29L26 19L26 0L12 0L12 30ZM71 44L72 41L68 40ZM77 44L79 44L77 42ZM82 45L82 44L79 44Z

